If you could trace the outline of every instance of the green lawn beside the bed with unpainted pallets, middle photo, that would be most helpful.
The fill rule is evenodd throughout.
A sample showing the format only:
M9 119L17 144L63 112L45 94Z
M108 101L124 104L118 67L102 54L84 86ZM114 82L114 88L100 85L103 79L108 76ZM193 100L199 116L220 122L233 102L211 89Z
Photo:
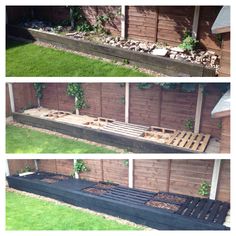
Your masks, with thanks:
M39 131L6 127L7 153L115 153L115 151L85 142L74 141Z

